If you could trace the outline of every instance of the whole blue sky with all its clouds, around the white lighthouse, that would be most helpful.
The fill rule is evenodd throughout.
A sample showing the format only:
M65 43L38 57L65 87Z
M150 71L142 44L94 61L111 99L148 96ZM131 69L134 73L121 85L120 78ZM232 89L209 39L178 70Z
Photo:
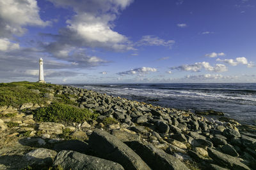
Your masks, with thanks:
M256 83L255 0L0 0L0 82Z

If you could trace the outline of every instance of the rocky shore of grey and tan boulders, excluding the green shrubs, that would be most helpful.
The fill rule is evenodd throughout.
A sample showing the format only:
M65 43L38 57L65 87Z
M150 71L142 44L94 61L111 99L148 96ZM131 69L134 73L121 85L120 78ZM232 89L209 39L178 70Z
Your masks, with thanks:
M44 103L0 106L0 169L256 169L253 126L76 87L29 90ZM38 120L60 96L97 118Z

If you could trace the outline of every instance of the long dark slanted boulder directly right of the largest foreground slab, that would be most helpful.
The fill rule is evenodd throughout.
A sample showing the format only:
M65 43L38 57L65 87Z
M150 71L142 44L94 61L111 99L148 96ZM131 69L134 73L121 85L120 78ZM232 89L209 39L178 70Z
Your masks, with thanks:
M152 169L188 169L179 159L156 148L152 144L145 145L138 141L128 144Z

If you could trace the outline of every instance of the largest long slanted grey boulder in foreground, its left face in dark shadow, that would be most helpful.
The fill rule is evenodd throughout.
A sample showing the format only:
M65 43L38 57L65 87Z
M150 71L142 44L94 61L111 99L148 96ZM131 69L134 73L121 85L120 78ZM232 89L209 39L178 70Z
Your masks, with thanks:
M106 131L93 131L89 143L97 155L118 162L125 169L150 169L137 153Z

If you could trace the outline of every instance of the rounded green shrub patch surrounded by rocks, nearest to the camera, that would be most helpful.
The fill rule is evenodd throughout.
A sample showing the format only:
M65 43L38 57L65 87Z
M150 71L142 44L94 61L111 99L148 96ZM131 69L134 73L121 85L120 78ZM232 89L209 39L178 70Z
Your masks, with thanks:
M33 110L35 120L39 122L77 122L96 120L99 116L87 109L76 108L67 104L54 103L45 108Z

